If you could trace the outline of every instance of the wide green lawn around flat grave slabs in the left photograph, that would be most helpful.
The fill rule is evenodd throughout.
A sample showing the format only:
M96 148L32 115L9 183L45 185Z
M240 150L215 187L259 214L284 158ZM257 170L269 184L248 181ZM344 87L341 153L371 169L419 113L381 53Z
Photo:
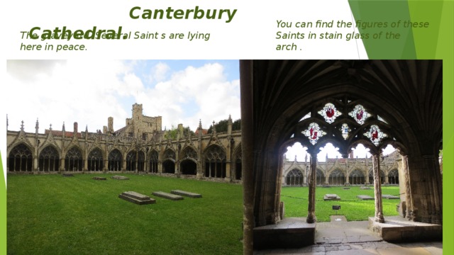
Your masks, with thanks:
M8 254L241 254L240 185L122 174L95 181L78 174L7 177ZM166 200L181 189L203 198ZM118 198L136 191L157 200Z

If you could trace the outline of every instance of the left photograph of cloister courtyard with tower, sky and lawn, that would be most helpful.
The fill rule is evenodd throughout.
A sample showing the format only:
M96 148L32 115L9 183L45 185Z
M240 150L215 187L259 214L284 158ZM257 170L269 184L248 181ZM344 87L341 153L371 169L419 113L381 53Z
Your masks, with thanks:
M7 75L9 253L242 251L238 60L9 60Z

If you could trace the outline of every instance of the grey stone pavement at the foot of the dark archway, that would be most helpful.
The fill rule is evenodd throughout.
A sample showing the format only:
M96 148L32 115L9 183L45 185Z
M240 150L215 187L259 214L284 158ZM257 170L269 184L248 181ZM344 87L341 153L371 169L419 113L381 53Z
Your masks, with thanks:
M317 222L316 244L300 249L270 249L255 251L257 255L438 255L443 254L442 242L392 244L367 229L369 222L347 222L344 216L331 216L331 222Z

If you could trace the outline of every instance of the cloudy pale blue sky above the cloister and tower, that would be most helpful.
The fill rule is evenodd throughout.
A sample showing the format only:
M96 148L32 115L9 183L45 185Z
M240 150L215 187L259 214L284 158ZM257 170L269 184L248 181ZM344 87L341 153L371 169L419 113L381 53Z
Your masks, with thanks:
M126 125L132 105L162 116L162 129L196 130L213 121L240 118L238 60L9 60L4 106L8 129L39 132L114 130Z

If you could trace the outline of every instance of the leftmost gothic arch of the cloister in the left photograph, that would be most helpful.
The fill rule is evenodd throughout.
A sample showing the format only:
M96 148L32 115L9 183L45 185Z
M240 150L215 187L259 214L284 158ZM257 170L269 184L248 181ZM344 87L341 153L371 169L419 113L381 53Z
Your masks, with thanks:
M8 155L9 171L32 171L33 153L25 143L18 143L11 149Z

